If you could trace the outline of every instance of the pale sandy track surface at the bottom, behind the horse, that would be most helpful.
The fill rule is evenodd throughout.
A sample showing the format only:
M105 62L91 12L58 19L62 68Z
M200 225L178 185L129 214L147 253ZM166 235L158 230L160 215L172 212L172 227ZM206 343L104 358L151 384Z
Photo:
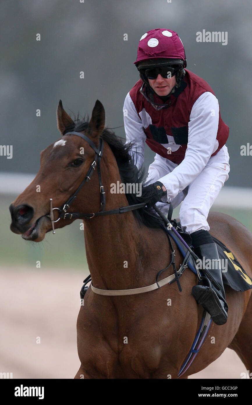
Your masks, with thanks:
M70 270L0 269L0 372L13 378L74 377L80 366L76 320L85 277ZM244 364L227 349L189 378L240 378L243 372Z

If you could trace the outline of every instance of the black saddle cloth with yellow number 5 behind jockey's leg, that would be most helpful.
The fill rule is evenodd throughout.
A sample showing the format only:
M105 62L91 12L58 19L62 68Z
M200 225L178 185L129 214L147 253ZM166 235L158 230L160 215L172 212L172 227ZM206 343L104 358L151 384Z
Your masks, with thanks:
M178 223L178 226L180 224ZM176 234L172 230L168 230L169 235L174 239L176 245L178 246L180 252L183 256L186 255L187 249L183 243L178 239ZM191 237L188 234L179 232L180 236L186 241L186 243L191 246ZM252 279L246 274L246 271L242 268L241 264L238 262L237 258L227 248L221 241L212 236L214 242L217 245L218 254L221 262L222 269L222 280L223 284L230 286L235 291L246 291L252 289ZM205 260L205 268L211 271L211 260ZM188 262L188 268L197 274L195 269L195 263L193 260Z

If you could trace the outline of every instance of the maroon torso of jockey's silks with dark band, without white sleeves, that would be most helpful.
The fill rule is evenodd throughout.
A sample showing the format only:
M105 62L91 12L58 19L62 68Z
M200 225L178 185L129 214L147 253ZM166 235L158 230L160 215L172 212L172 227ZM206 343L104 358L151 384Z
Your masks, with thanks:
M188 122L190 121L193 104L205 92L210 92L215 96L212 88L205 80L190 70L185 69L185 72L180 87L176 88L165 103L169 105L168 108L157 111L152 107L150 102L140 93L143 84L141 79L129 92L136 112L143 122L147 145L152 151L176 164L180 164L185 157L188 143ZM163 100L156 94L154 94L153 101L157 104L163 104ZM218 143L216 143L216 149L211 155L214 156L225 145L229 136L229 127L223 122L220 109L219 111L213 109L210 114L219 116L216 136ZM144 125L144 123L147 123L147 125ZM168 144L171 141L177 145L172 149L177 150L172 150L169 147Z

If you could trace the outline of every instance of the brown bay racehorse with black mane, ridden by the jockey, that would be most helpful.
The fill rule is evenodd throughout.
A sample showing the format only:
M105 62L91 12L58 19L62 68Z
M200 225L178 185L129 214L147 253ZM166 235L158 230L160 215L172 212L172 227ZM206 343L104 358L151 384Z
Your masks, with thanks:
M57 126L61 139L42 151L38 174L10 206L11 230L21 234L23 239L40 242L53 226L62 228L76 218L82 218L80 213L87 213L83 219L84 235L93 286L124 290L155 283L157 272L169 266L170 245L160 219L151 215L151 209L142 207L115 215L92 214L104 210L101 202L104 193L106 210L146 200L144 185L142 196L110 192L111 184L117 181L141 183L143 180L143 173L136 170L130 157L129 146L123 145L112 130L104 129L105 111L99 100L90 122L73 120L60 100ZM101 140L102 157L97 156ZM93 170L98 160L100 171ZM83 179L87 180L84 185ZM40 192L36 192L37 185L40 185ZM76 190L78 196L74 195L71 200L70 196L76 194ZM251 277L250 231L222 213L210 213L208 222L211 234L231 249ZM175 243L174 250L178 267L183 258ZM173 269L169 266L161 278L171 274ZM172 283L154 291L127 296L102 296L89 287L77 320L81 365L75 378L178 378L203 314L203 308L191 294L192 287L197 284L196 275L186 269L180 283L182 292L176 283ZM229 306L227 323L217 326L212 322L194 362L179 378L201 371L227 347L235 350L246 369L252 371L251 290L237 292L229 286L225 286L225 290Z

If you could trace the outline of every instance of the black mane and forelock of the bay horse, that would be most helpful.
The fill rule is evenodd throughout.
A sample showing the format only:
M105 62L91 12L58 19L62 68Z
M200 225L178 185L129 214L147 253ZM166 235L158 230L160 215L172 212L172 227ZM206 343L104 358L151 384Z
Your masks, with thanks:
M65 129L63 135L66 132L80 132L85 131L89 125L89 117L87 116L87 120L84 119L80 120L79 116L74 116L74 123ZM142 195L138 196L136 193L127 192L126 188L126 198L129 205L144 203L145 201L149 200L150 197L154 194L154 191L147 187L147 183L145 183L145 170L144 168L138 168L135 166L133 157L131 156L130 150L132 147L132 143L127 145L123 144L125 141L123 138L117 136L114 131L110 128L105 128L101 135L102 139L106 141L114 154L116 159L117 166L119 168L119 173L121 176L121 183L131 183L131 184L142 184ZM155 215L155 212L152 208L140 208L137 210L132 211L136 219L140 224L147 226L148 228L160 228L162 221L161 219Z

